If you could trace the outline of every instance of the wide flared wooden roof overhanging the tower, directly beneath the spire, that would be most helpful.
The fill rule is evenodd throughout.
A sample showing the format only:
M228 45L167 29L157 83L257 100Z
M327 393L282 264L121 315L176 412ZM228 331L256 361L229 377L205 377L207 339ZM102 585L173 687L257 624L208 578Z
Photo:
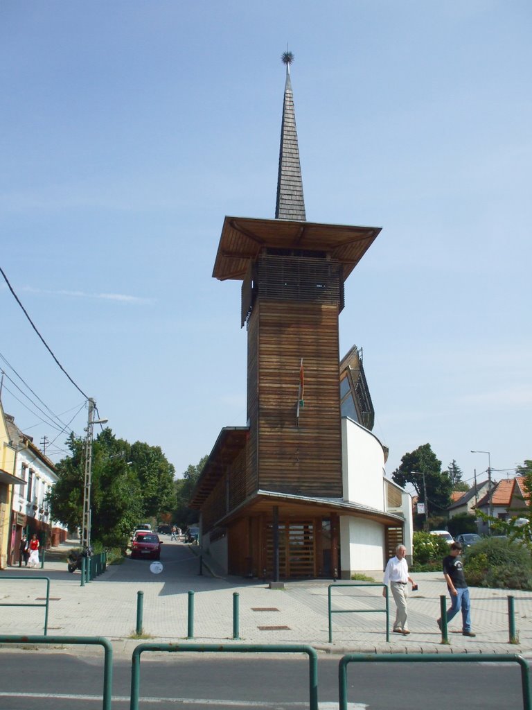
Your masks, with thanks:
M381 231L377 226L293 222L288 219L226 217L214 262L213 277L243 280L261 249L326 251L343 264L343 278L353 271Z

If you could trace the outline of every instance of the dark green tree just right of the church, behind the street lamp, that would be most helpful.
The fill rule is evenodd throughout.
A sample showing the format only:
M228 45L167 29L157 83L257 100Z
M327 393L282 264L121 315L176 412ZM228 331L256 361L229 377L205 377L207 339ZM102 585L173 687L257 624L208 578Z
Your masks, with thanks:
M428 501L429 514L441 515L450 506L450 493L453 490L450 476L448 471L441 470L441 461L436 458L431 444L423 444L415 451L404 454L392 479L401 488L405 488L406 484L414 486L419 501Z

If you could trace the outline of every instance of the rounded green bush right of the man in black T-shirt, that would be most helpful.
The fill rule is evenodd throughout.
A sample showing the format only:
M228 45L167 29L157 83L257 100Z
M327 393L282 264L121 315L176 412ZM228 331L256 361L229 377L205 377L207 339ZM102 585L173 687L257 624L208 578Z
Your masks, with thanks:
M487 537L467 550L464 574L470 586L532 590L532 557L519 543Z

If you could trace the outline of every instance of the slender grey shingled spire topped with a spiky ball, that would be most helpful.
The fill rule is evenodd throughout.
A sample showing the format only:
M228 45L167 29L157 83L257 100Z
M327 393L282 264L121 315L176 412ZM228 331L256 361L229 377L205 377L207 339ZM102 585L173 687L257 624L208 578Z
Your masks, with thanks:
M275 219L296 219L306 221L303 180L297 145L296 114L294 96L290 81L290 65L294 55L288 50L282 54L282 62L287 66L287 80L284 84L284 104L282 107L281 146L279 148L279 175L277 177L277 204Z

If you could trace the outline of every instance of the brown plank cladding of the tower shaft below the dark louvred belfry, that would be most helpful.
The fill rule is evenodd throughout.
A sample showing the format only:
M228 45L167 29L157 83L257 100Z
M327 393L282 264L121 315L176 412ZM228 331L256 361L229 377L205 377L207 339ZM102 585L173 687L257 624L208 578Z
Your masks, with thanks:
M301 358L305 387L298 426ZM248 416L262 490L341 497L338 361L337 304L255 305L248 331Z

